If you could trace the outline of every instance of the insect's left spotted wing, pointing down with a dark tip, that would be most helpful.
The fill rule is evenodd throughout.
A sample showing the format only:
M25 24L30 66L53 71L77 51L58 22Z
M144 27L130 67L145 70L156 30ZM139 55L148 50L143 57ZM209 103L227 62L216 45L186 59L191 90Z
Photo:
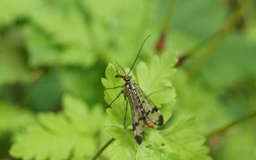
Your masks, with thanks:
M143 134L145 132L144 129L144 122L141 116L141 112L139 111L140 102L139 99L136 98L136 95L133 93L132 90L128 91L128 99L131 105L131 112L132 112L132 128L134 133L134 138L137 143L140 145L143 140Z

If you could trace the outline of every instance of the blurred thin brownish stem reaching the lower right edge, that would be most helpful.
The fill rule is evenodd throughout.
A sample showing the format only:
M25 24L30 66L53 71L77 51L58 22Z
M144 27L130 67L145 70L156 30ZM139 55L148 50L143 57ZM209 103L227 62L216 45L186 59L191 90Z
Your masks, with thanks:
M256 111L253 113L250 113L249 115L242 116L241 118L235 120L234 122L231 122L230 124L225 125L221 129L217 129L216 131L211 132L210 134L208 134L205 137L207 138L207 140L209 140L209 138L212 138L213 136L216 136L218 134L226 132L228 129L230 129L234 125L241 124L241 123L245 122L246 120L254 118L255 116L256 116Z

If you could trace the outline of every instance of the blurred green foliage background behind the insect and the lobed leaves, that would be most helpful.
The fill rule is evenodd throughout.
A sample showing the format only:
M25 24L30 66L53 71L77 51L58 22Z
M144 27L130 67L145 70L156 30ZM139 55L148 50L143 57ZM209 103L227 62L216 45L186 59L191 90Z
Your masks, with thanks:
M256 159L256 1L0 1L0 159L36 115L72 93L107 108L108 62L179 54L173 120L195 116L213 159ZM104 107L103 107L104 106Z

